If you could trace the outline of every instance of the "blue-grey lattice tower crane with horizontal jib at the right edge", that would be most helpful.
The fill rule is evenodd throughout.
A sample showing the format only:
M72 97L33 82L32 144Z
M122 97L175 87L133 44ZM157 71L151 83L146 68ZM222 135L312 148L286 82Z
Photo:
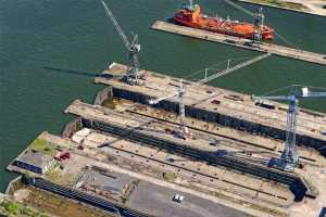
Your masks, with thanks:
M280 168L283 170L293 169L298 163L299 156L296 151L296 131L297 131L297 116L299 113L299 99L303 98L326 98L326 92L311 92L309 88L304 87L301 91L298 90L298 85L290 87L288 95L267 95L256 97L252 95L252 100L281 100L288 101L289 107L287 112L287 129L286 143L280 158L271 159L269 165Z

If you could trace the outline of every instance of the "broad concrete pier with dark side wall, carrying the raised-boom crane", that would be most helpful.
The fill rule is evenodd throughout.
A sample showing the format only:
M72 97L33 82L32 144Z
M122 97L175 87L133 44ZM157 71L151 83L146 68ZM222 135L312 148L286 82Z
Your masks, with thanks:
M125 71L125 65L112 64L104 74L120 76ZM146 82L142 86L129 86L116 77L110 79L100 77L96 79L96 82L111 87L111 92L106 95L112 94L142 104L148 104L149 99L168 95L177 91L178 80L176 78L152 72L146 72ZM190 85L191 81L187 81L187 84ZM255 104L250 95L196 85L187 89L185 104L186 115L189 117L285 140L287 105L273 102L273 107L266 108ZM178 100L172 98L162 101L156 106L178 112ZM298 142L315 148L325 154L326 136L321 133L325 129L325 114L301 110L298 116Z

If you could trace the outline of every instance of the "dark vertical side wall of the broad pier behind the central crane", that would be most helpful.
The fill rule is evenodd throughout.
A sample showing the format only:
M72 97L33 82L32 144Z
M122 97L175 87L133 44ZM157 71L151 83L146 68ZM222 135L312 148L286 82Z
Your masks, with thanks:
M134 92L125 89L118 89L115 87L112 87L112 97L122 98L134 102L139 102L142 104L148 104L148 99L150 98L149 95L143 93ZM151 106L163 108L175 113L178 113L179 110L177 103L167 100L161 101L160 103ZM205 122L217 123L218 125L231 127L242 131L249 131L255 135L262 135L274 139L286 140L286 131L284 129L277 129L274 127L261 125L259 123L248 122L225 114L220 114L218 111L211 112L211 111L206 111L203 108L198 108L189 105L186 105L185 108L186 108L186 116L189 117L195 117ZM324 156L326 156L326 143L323 140L298 133L297 142L299 144L313 148L319 151Z

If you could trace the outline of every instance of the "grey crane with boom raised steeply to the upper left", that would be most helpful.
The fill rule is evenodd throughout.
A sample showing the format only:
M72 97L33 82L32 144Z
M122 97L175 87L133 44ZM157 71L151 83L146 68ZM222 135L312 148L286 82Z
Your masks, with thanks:
M129 52L129 62L126 75L123 77L123 80L129 85L137 85L139 84L139 78L141 78L140 75L140 68L139 68L139 62L137 58L137 53L140 51L140 44L138 42L138 35L133 35L133 41L129 42L128 38L124 34L123 29L118 25L116 18L114 17L112 11L109 9L109 7L105 4L104 1L102 1L102 4L104 7L106 15L111 18L116 31L121 36L124 46L127 48Z

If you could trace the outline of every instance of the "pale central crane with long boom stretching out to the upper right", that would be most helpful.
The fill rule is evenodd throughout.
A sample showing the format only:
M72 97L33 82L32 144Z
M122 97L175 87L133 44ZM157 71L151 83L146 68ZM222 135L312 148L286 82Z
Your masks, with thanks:
M226 74L229 74L234 71L237 71L237 69L240 69L242 67L246 67L248 65L251 65L260 60L263 60L265 58L268 58L269 55L272 55L271 53L265 53L263 55L259 55L254 59L251 59L249 61L246 61L243 63L240 63L238 65L235 65L233 67L227 67L226 69L222 71L222 72L217 72L209 77L205 77L199 81L196 81L193 84L191 84L189 87L187 88L191 88L192 86L196 86L196 85L203 85L203 84L206 84L206 82L210 82L218 77L222 77ZM163 100L167 100L167 99L171 99L171 98L175 98L175 97L178 97L178 101L179 101L179 119L180 119L180 125L179 125L179 129L177 130L177 136L183 138L183 139L187 139L190 137L190 133L188 131L188 128L187 128L187 123L186 123L186 112L185 112L185 94L186 94L186 87L184 86L184 81L183 79L179 80L179 87L178 87L178 90L176 92L173 92L172 94L168 94L168 95L165 95L165 97L162 97L162 98L158 98L158 99L150 99L148 102L149 104L153 105L153 104L158 104L160 103L161 101Z

